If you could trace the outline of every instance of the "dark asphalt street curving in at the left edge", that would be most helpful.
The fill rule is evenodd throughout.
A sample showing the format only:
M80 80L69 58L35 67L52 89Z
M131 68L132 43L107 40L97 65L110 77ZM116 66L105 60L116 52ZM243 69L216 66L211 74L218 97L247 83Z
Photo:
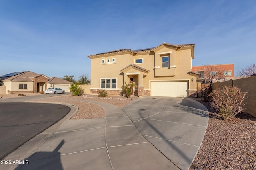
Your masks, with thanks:
M0 101L0 160L70 111L70 107L60 104L11 102L30 100L29 97Z

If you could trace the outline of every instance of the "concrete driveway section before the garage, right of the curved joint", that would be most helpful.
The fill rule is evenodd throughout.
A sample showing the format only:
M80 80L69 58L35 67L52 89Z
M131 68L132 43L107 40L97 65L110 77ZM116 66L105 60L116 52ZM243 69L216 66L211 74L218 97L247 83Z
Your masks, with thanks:
M122 110L142 135L180 169L192 164L204 138L209 113L190 98L144 97Z

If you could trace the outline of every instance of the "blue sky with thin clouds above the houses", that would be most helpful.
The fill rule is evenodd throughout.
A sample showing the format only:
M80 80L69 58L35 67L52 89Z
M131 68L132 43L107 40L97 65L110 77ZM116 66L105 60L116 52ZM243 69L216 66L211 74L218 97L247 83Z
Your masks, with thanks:
M0 0L0 75L90 77L88 55L194 43L192 65L256 63L255 0ZM9 71L10 70L10 71Z

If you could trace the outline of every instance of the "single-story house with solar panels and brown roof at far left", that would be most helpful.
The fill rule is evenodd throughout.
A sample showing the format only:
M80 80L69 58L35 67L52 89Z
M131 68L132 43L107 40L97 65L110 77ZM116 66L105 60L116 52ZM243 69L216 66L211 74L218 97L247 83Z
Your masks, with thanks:
M5 87L2 93L37 93L42 92L49 87L63 88L65 92L69 92L70 84L66 80L60 78L48 78L43 74L36 74L31 71L13 72L0 76L1 86Z

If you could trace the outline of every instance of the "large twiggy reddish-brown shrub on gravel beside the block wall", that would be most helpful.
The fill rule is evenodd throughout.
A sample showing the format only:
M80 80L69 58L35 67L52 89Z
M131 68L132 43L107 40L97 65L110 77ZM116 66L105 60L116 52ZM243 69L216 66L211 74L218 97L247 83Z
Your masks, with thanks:
M245 108L244 99L246 92L241 92L236 86L222 86L222 90L213 90L210 93L212 98L211 107L216 109L224 120L234 117L238 113L242 113Z

